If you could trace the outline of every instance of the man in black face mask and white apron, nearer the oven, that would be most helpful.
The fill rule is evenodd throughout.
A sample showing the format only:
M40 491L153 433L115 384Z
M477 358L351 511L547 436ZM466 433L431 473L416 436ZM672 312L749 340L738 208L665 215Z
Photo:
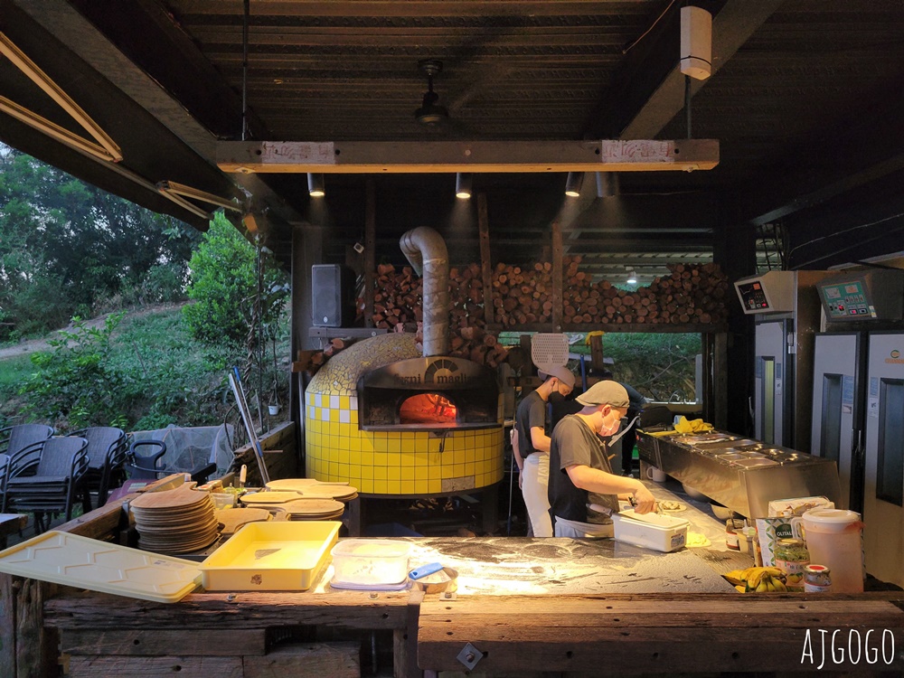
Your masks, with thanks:
M551 366L540 372L544 380L522 399L515 413L512 450L521 476L527 517L534 537L551 537L550 437L546 435L546 404L564 398L574 388L574 374L566 367Z

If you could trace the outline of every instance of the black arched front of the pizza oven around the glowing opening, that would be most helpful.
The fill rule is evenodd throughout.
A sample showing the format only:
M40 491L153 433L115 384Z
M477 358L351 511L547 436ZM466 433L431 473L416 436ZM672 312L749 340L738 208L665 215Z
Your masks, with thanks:
M365 372L357 392L363 430L485 428L498 423L495 373L459 358L391 363Z

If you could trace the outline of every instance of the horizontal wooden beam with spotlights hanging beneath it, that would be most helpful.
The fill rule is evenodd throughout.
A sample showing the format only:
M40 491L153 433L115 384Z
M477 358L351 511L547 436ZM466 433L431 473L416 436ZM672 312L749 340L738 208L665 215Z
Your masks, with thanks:
M712 169L713 139L599 141L221 141L224 172L391 174L663 172Z

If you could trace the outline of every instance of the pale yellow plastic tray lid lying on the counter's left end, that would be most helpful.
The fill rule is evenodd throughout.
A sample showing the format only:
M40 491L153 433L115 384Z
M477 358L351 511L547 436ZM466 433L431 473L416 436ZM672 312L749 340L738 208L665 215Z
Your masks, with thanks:
M161 603L174 603L201 583L192 560L55 530L0 551L0 572Z

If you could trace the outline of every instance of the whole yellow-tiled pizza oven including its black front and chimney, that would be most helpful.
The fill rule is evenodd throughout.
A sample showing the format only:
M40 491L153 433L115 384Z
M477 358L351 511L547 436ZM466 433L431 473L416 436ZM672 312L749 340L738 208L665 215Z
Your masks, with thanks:
M447 355L448 262L436 231L401 240L424 268L423 352L414 334L381 334L337 353L305 393L306 476L362 494L455 494L503 477L496 373Z

